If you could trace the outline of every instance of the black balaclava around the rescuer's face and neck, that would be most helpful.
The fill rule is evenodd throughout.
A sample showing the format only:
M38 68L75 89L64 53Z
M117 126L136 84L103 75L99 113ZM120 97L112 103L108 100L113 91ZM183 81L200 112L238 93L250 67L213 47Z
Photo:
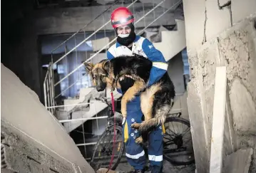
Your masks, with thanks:
M117 39L118 43L120 43L123 46L129 46L130 43L133 43L133 41L136 38L133 23L129 23L127 26L130 27L129 35L128 34L119 34L118 39ZM118 35L117 28L116 28L116 34ZM126 35L128 35L128 36L126 36Z

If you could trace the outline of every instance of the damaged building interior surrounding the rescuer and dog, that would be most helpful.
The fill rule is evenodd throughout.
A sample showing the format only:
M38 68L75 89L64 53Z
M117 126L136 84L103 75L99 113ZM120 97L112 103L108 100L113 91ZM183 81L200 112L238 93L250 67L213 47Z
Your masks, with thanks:
M255 173L255 0L1 1L1 172L136 171L124 97L98 91L83 63L107 59L121 6L175 88L163 154L143 146L143 172Z

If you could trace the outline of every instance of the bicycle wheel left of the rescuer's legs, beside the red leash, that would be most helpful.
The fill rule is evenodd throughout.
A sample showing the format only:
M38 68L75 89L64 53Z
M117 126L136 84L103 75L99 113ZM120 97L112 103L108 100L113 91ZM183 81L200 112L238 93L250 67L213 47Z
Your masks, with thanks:
M114 148L114 158L111 164L112 170L116 169L123 155L124 142L122 134L122 128L116 125L116 143ZM109 167L113 151L113 136L114 126L109 127L103 132L103 135L101 135L93 151L93 156L91 157L91 167L93 167L93 169L98 170L100 168Z

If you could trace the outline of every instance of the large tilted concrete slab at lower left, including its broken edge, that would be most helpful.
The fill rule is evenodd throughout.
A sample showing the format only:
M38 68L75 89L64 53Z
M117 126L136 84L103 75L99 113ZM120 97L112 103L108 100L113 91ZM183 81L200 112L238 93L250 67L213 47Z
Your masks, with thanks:
M94 172L34 91L3 64L1 153L4 167L14 172Z

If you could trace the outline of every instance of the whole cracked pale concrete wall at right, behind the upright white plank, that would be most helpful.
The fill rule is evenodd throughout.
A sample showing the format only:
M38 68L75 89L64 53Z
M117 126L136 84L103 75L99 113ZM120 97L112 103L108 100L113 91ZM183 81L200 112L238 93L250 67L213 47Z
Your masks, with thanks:
M183 0L191 81L188 110L197 172L209 172L215 68L227 66L223 157L252 147L256 158L256 1ZM225 163L224 163L225 165ZM256 172L255 163L250 167Z

